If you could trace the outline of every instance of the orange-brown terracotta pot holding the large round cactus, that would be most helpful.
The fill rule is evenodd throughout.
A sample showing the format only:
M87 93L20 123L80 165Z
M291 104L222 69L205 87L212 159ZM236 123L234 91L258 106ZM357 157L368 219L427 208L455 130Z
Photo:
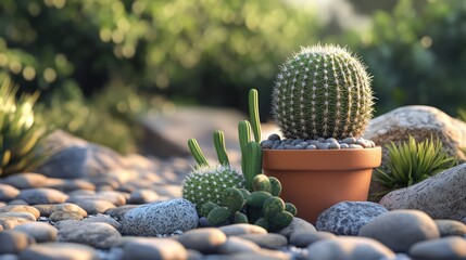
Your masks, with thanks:
M380 166L381 148L264 150L266 176L280 180L280 197L298 208L298 216L315 223L330 206L367 200L373 168Z

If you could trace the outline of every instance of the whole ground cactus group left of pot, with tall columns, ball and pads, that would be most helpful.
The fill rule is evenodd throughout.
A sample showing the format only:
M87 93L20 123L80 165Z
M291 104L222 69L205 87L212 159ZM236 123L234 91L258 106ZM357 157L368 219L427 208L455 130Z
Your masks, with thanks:
M279 198L281 184L276 178L261 173L261 122L257 91L254 89L249 93L249 110L251 122L242 120L238 123L242 174L229 166L222 131L215 131L213 135L221 164L216 167L209 165L198 142L190 139L188 146L198 166L187 178L182 196L194 203L198 212L213 225L252 223L277 231L291 223L297 208ZM251 140L251 132L254 140Z

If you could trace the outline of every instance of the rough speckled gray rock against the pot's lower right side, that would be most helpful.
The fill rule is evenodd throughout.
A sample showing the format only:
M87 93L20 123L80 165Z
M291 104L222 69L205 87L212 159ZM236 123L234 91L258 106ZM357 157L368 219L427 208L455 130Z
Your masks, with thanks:
M337 235L354 236L363 225L387 212L383 206L375 203L341 202L322 212L315 227Z

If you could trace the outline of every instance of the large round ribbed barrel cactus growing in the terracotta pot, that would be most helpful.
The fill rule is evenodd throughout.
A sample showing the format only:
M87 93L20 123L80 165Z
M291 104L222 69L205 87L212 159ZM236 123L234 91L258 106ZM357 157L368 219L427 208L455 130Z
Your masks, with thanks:
M290 139L358 136L373 115L370 76L338 46L303 48L277 76L272 112Z

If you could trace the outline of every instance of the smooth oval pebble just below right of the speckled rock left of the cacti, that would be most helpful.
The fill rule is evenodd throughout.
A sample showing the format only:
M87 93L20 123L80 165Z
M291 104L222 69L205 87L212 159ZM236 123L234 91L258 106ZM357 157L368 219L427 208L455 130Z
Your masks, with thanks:
M190 230L177 236L176 240L181 243L187 249L200 252L213 252L227 240L227 236L218 229L205 227Z

